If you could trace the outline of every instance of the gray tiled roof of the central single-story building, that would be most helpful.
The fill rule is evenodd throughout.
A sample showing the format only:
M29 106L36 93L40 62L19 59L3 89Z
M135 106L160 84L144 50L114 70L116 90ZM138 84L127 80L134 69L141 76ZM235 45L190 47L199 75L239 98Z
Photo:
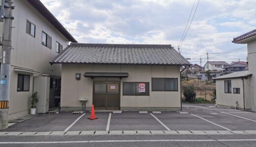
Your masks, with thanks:
M71 43L51 64L191 65L171 45Z

